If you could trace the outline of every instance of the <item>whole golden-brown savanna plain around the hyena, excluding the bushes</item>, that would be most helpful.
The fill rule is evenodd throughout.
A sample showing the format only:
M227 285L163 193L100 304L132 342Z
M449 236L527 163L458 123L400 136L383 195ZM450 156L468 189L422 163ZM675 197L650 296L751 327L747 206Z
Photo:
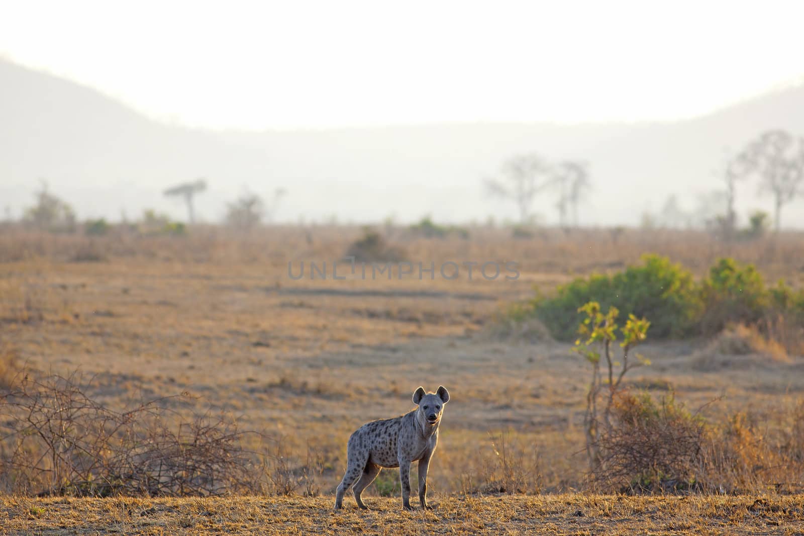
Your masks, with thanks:
M412 274L371 277L369 268L363 278L343 258L370 256L359 249L366 236L347 226L102 237L4 229L0 533L804 534L804 453L790 455L804 445L800 347L779 348L740 326L667 340L649 328L639 352L650 365L630 370L624 388L728 427L740 436L728 448L744 465L713 476L724 483L715 487L612 484L588 472L589 362L572 341L510 312L646 253L695 278L734 258L798 291L804 235L727 243L680 230L515 237L479 227L426 237L380 227L390 256L412 262ZM289 263L297 276L301 262L304 277L290 277ZM326 262L326 278L311 278L310 262ZM420 278L419 262L435 263L435 277ZM461 266L457 278L438 273L445 262ZM489 280L475 267L470 278L464 262L516 262L519 276ZM27 443L23 460L10 424L26 408L19 386L53 377L116 414L161 401L167 429L171 419L224 423L236 449L216 452L248 460L246 470L198 493L133 493L65 482L66 473L55 481L57 456L35 460ZM440 385L451 398L430 464L435 509L402 510L398 472L385 469L363 495L371 510L347 493L334 512L351 432L411 410L417 386ZM772 456L781 448L784 463Z

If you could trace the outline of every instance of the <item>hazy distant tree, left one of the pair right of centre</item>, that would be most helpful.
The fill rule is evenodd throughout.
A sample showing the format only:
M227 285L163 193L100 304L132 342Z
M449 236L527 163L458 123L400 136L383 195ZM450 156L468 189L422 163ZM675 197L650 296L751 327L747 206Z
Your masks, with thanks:
M514 200L519 221L527 224L535 195L553 181L552 167L539 155L517 155L503 164L500 179L486 179L486 191L492 196Z

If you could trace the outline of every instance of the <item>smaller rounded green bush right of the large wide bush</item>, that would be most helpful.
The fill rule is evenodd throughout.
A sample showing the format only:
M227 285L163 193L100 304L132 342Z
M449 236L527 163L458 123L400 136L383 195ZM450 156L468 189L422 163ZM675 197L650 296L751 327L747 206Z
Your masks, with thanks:
M720 258L701 285L704 333L720 332L727 324L755 324L770 305L762 275L752 265L740 266L732 258Z

